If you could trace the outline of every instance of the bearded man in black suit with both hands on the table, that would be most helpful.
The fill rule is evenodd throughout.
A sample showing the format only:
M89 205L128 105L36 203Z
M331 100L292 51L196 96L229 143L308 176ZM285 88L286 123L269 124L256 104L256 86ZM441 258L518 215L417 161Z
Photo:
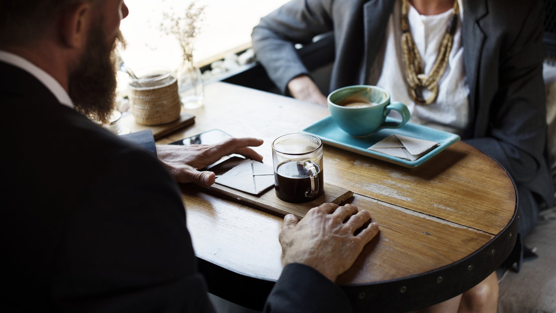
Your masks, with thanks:
M132 136L150 153L91 122L112 109L110 56L127 14L122 0L0 2L4 312L214 311L175 180L211 185L214 173L196 168L231 153L260 161L249 146L262 141ZM350 311L334 281L378 232L354 235L369 219L331 204L299 224L286 216L285 268L265 311Z

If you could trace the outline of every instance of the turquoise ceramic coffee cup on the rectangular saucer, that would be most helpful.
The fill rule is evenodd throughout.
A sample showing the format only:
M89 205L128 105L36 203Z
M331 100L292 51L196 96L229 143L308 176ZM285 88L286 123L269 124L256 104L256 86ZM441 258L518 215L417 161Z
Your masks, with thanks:
M368 85L347 86L332 91L327 98L332 120L354 137L366 137L383 128L400 128L409 121L408 107L390 103L390 93ZM401 121L388 121L390 110L398 111Z

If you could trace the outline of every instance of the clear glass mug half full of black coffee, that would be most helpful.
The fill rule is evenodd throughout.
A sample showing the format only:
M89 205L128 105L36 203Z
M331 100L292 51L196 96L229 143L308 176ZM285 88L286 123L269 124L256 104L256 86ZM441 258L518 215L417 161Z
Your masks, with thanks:
M272 142L276 196L292 203L309 202L324 192L322 141L306 133L290 133Z

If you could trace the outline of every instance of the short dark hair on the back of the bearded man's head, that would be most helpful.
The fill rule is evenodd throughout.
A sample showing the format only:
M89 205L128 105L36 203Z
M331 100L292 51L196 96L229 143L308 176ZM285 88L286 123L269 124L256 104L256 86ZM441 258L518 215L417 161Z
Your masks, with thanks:
M62 9L97 0L1 0L0 47L20 46L44 35Z

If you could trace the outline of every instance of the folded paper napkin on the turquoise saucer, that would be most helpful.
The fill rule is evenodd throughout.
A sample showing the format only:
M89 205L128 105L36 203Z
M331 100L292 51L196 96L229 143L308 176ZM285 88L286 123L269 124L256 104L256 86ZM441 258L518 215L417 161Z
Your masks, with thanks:
M438 145L439 143L436 141L392 134L367 149L404 160L415 161Z

